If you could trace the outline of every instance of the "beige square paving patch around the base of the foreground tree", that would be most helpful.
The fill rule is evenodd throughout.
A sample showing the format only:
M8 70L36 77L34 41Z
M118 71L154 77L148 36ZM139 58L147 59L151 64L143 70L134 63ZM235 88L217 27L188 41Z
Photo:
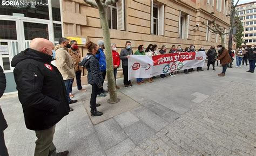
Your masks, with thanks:
M93 125L99 124L104 120L110 119L114 116L117 116L119 114L122 114L123 112L129 111L139 106L139 103L132 100L130 97L124 95L123 93L120 93L119 91L117 91L117 96L118 98L120 98L120 102L114 104L107 103L107 100L109 99L109 94L107 94L106 97L97 97L97 103L101 104L101 106L98 107L97 110L104 113L102 116L99 117L91 116L90 100L83 101L84 107L87 111L87 114L89 114Z

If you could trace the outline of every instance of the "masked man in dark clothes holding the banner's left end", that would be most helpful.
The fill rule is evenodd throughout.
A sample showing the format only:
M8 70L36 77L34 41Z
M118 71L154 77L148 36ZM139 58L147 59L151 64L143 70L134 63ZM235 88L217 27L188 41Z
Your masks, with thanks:
M120 52L120 59L122 60L122 68L124 74L124 86L125 88L133 87L131 81L128 81L128 59L130 55L133 55L133 51L131 49L131 42L126 41L125 48Z

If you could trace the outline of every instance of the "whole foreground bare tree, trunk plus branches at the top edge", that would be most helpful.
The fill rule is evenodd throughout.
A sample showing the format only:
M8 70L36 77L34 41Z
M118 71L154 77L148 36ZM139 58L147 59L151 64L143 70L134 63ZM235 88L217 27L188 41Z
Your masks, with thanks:
M94 8L98 8L100 24L102 25L104 46L106 49L106 63L107 63L107 84L109 86L110 99L107 101L109 103L119 102L116 93L116 83L114 81L113 74L113 58L111 50L111 41L110 41L110 32L109 32L109 23L107 22L106 9L108 5L112 5L117 2L117 0L84 0L85 3L91 5Z

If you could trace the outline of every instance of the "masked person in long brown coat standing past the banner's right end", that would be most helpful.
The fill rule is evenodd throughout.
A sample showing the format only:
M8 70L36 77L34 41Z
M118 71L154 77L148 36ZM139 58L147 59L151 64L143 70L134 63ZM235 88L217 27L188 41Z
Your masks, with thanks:
M228 54L228 50L223 47L222 45L218 45L217 49L219 51L219 57L217 60L220 60L220 63L222 65L222 72L218 74L218 76L225 76L227 65L228 63L232 62L230 58L230 54Z

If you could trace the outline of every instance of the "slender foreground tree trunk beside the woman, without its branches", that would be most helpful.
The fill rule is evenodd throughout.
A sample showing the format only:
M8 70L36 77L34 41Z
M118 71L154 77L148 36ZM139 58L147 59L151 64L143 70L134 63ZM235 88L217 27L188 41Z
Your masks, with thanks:
M114 81L114 73L113 73L113 57L112 57L112 50L111 50L111 41L110 41L110 33L109 33L109 24L107 22L106 17L106 8L102 5L98 4L99 10L99 18L100 23L102 24L102 31L103 31L103 39L104 39L104 46L105 46L105 53L106 53L106 74L107 74L107 85L109 86L109 94L110 99L107 101L109 103L117 103L119 102L116 93L116 82Z

